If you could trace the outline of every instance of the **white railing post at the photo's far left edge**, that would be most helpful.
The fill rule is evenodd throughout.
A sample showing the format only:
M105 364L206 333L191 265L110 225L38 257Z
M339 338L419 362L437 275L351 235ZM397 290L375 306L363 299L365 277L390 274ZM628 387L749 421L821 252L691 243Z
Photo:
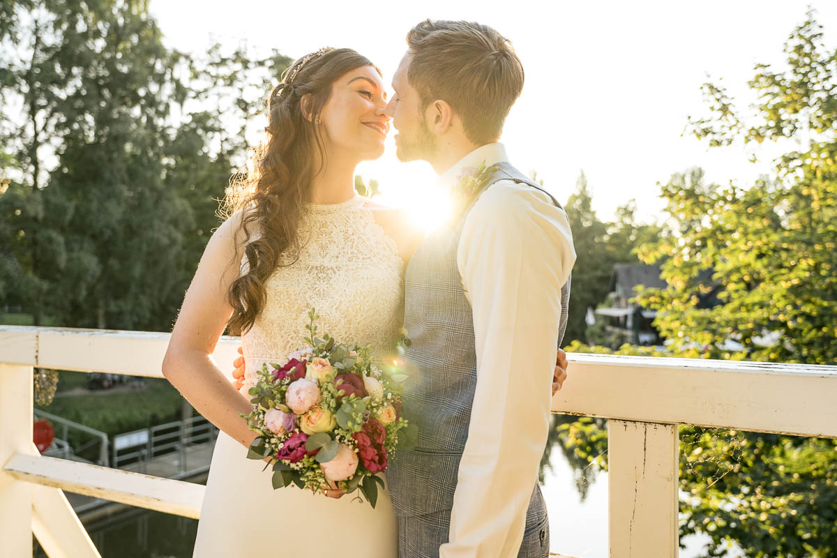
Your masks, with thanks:
M0 363L0 541L4 556L32 555L32 485L3 472L32 453L33 366Z

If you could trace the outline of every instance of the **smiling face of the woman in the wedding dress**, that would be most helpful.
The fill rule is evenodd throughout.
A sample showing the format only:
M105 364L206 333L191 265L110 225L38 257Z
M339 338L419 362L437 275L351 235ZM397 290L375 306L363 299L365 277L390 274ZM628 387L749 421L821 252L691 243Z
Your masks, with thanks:
M381 76L372 66L353 69L337 79L320 113L326 149L348 151L358 161L382 156L389 131L386 106Z

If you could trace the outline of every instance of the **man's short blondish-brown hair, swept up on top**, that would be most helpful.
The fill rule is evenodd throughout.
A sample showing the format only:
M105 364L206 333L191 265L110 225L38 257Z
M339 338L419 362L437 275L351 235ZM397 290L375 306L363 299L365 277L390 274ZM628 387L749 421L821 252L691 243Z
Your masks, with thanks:
M481 23L427 19L410 29L407 44L407 79L421 110L447 101L470 141L497 141L523 89L523 65L511 41Z

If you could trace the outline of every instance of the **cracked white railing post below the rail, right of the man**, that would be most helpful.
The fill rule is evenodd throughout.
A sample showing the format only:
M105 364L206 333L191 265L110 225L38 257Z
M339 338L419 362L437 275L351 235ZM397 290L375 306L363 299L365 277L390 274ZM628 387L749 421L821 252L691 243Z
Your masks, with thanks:
M676 558L676 424L608 421L611 558Z

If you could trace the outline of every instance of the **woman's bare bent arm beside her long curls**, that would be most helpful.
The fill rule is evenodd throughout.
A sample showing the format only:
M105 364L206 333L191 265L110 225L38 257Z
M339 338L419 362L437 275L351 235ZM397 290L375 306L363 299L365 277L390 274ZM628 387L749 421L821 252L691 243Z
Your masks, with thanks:
M233 312L227 289L240 272L239 265L230 265L240 262L243 254L236 238L240 218L240 213L234 214L209 239L172 330L162 373L203 417L249 447L256 434L238 415L252 410L249 401L212 358Z

